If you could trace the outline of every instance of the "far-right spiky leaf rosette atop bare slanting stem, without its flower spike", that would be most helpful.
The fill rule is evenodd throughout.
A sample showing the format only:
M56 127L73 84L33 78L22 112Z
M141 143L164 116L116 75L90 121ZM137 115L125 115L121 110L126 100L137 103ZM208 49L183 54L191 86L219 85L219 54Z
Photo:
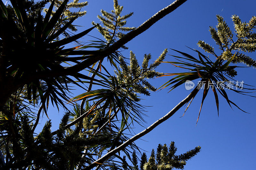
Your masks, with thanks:
M201 81L199 81L198 85L194 89L195 93L193 94L193 97L192 97L191 101L189 102L188 107L190 106L191 102L195 98L199 89L203 88L203 90L204 90L203 99L201 102L199 115L200 115L200 112L201 112L201 109L203 106L204 99L207 96L209 89L212 89L212 91L214 93L218 116L219 116L219 98L218 98L217 91L220 93L221 96L223 96L225 98L225 100L228 102L228 105L230 107L232 104L232 105L236 106L238 109L242 110L233 101L231 101L228 98L228 94L226 93L226 90L231 90L231 91L239 93L239 94L248 95L247 93L250 93L251 90L255 90L255 89L247 88L246 86L249 86L249 85L246 85L246 84L241 85L240 82L238 82L238 81L235 82L235 80L233 78L231 78L225 74L226 72L229 72L230 70L233 70L234 68L239 67L236 65L229 66L229 64L234 59L235 54L226 63L223 63L221 56L218 57L215 62L212 62L208 57L206 57L205 55L200 53L198 50L194 50L194 51L198 54L199 60L187 53L183 53L178 50L174 50L174 51L180 53L183 56L180 57L180 56L172 55L176 60L178 60L177 62L162 62L162 63L170 63L170 64L174 65L175 67L186 69L186 70L188 70L188 72L165 73L163 76L175 76L175 77L170 79L169 81L167 81L160 88L163 89L165 87L171 86L170 91L172 91L176 87L184 84L186 81L193 81L196 79L201 79ZM234 81L232 81L232 80L234 80ZM249 96L251 96L251 95L249 95ZM254 96L252 96L252 97L254 97ZM187 111L188 107L185 109L185 112ZM242 111L245 112L244 110L242 110ZM185 112L184 112L184 114L185 114ZM245 112L245 113L247 113L247 112ZM199 115L198 115L196 123L198 122Z

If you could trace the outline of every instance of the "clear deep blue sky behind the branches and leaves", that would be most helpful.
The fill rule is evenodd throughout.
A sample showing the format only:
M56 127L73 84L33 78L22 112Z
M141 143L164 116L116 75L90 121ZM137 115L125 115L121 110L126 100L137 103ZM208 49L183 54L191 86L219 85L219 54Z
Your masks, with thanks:
M123 14L134 12L132 18L127 20L127 26L135 27L171 3L172 1L167 0L119 0L119 4L124 6ZM123 54L129 57L129 51L132 50L140 62L146 53L151 53L152 58L156 59L164 48L174 48L196 55L185 46L199 50L196 45L198 40L204 40L212 45L215 44L208 29L209 26L216 26L216 14L223 16L233 31L231 15L237 14L242 21L249 21L256 14L255 6L256 2L253 0L188 0L146 32L127 43L126 46L129 49ZM100 9L111 11L112 8L112 0L89 0L89 6L84 8L87 11L86 16L76 21L76 25L84 26L80 27L79 31L91 27L90 23L92 21L100 22L96 18L100 14ZM92 31L91 35L102 38L96 30ZM93 38L85 36L84 40L93 40ZM220 54L217 48L215 48L215 51ZM177 53L169 50L168 54L176 55ZM251 56L256 59L255 53L252 53ZM212 60L215 59L211 55L210 57L212 57ZM173 61L173 58L167 56L166 61ZM170 64L162 64L158 71L164 73L177 72ZM239 74L236 77L237 80L256 85L255 69L242 68L237 72ZM152 85L159 87L169 79L170 77L158 78L151 82ZM167 89L164 89L159 92L152 92L150 97L142 96L143 99L146 99L141 102L142 104L153 106L147 108L148 117L145 118L148 122L147 125L151 125L168 113L190 91L187 91L185 86L180 86L170 93L167 92ZM145 141L138 140L136 144L148 151L148 157L151 149L156 149L159 143L169 144L170 141L174 141L178 147L177 153L184 153L200 145L202 151L189 160L185 166L185 169L189 170L254 170L256 167L256 99L232 92L228 94L236 104L251 114L245 114L235 107L232 110L227 102L220 98L220 116L218 117L214 95L209 91L196 126L196 119L202 100L202 92L200 92L182 118L180 116L183 115L185 107L144 136L142 139ZM51 114L50 117L53 120L58 120L61 115L62 113L60 112L59 115ZM58 121L53 122L55 122L55 127L59 123ZM136 133L141 130L143 130L142 127L134 129Z

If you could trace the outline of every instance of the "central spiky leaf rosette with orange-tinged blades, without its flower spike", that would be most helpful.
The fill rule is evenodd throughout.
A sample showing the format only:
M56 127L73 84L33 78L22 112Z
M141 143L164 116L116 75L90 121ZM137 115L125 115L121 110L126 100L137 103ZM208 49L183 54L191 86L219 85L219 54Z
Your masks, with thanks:
M103 65L101 67L105 70ZM100 85L104 88L82 93L72 98L72 102L78 100L87 100L90 102L97 100L91 110L88 113L86 112L87 115L93 114L98 109L101 110L102 115L105 115L105 113L109 115L112 111L117 115L117 110L120 110L124 119L128 116L131 119L135 118L135 121L143 120L141 114L143 114L144 107L128 97L120 78L111 76L110 74L98 73L93 69L90 71L101 80L95 79L93 82L82 82ZM87 115L84 116L86 117Z

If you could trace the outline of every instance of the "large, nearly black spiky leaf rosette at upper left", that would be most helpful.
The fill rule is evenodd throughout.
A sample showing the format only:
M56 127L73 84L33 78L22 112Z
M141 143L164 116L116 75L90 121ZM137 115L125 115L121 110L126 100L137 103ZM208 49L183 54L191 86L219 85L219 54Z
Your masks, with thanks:
M2 92L1 99L6 101L8 96L19 88L27 91L27 97L30 102L36 103L36 98L40 97L46 113L48 103L56 105L64 103L62 99L68 100L68 83L77 84L72 78L88 78L79 73L62 73L60 76L49 76L48 71L64 69L60 63L67 59L66 54L72 52L78 47L63 49L65 45L76 41L85 34L89 33L95 26L76 35L55 40L62 34L68 26L76 19L73 17L62 27L59 27L59 19L63 17L68 0L63 1L59 8L52 15L54 0L50 5L46 15L41 15L42 6L47 1L43 1L37 10L31 11L24 8L26 1L11 0L12 8L6 7L0 2L0 54L1 69L4 75L1 75L1 83L8 87ZM68 54L72 55L72 54ZM67 59L68 60L68 59ZM57 73L57 71L55 72ZM80 86L80 85L79 85ZM45 104L47 103L47 104Z

